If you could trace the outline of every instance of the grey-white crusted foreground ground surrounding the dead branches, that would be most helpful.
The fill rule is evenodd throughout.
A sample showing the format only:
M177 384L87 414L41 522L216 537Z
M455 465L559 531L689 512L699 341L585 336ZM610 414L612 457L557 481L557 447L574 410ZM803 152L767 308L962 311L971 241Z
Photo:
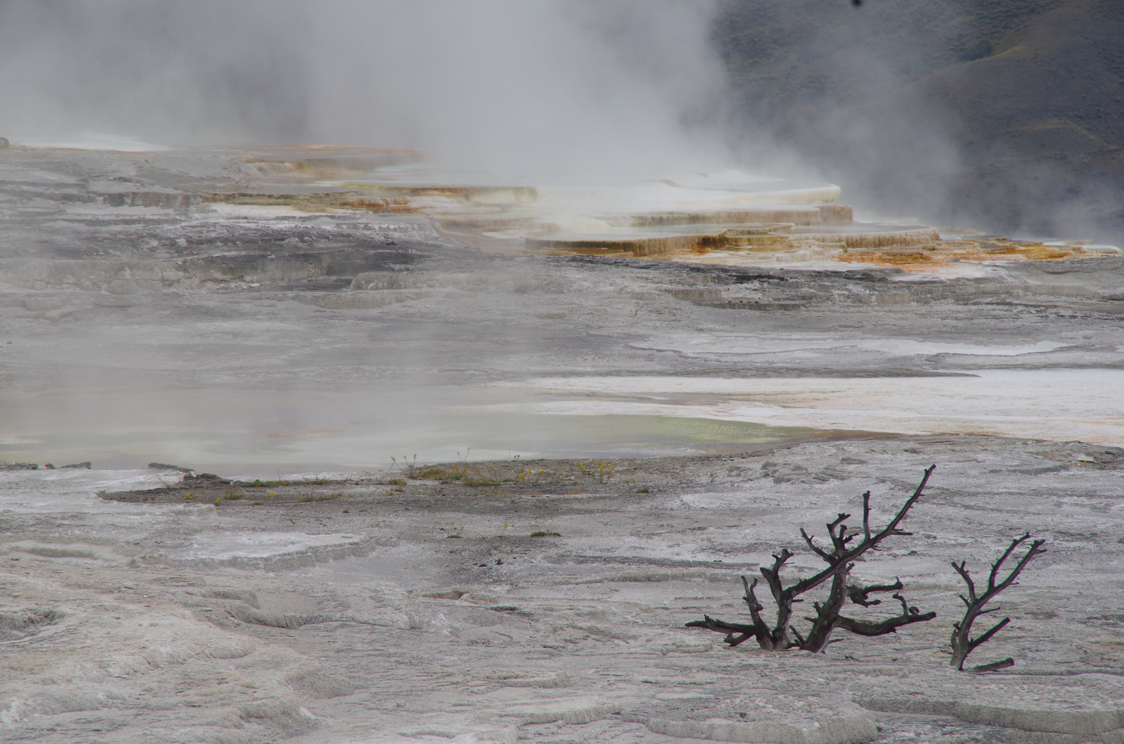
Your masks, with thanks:
M1122 455L825 442L620 463L592 491L411 482L217 507L107 503L72 481L71 511L28 506L51 473L9 473L3 498L22 506L6 512L0 611L52 615L6 620L4 741L1120 742ZM742 617L740 573L781 546L792 575L813 570L798 526L821 533L867 488L886 518L928 463L915 536L855 574L900 577L935 620L819 656L682 627ZM954 672L949 562L978 573L1023 530L1049 552L972 657L1016 665Z

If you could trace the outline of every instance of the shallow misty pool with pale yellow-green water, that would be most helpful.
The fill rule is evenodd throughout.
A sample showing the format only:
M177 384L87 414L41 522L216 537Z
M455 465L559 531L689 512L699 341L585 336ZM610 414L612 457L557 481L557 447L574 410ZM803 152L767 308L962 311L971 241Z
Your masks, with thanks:
M390 466L391 457L637 457L741 452L841 435L705 417L497 410L524 391L164 390L9 398L0 460L164 462L223 473Z

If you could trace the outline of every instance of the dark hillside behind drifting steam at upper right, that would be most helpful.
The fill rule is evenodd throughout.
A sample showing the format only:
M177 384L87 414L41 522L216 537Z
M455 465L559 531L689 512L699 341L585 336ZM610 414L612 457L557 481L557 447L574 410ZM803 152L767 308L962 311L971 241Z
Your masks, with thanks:
M729 0L745 127L852 199L1124 239L1121 0Z

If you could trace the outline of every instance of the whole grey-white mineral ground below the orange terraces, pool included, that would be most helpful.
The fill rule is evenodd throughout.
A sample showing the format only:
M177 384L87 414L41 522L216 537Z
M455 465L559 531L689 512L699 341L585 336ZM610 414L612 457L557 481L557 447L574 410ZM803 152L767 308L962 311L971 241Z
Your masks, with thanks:
M277 193L266 155L0 155L6 741L1122 741L1124 260L536 253L393 201L456 194L206 196ZM683 627L934 463L855 569L934 620ZM1024 532L971 657L1015 665L953 672L950 562Z

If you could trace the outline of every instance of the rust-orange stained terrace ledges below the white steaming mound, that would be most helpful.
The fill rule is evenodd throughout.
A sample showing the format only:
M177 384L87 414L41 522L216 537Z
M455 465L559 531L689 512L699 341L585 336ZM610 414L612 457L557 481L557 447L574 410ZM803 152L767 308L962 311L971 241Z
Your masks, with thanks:
M245 152L243 170L251 184L242 191L199 198L306 211L430 215L446 235L486 253L674 260L724 251L765 261L839 261L905 271L930 271L952 261L1057 261L1088 255L1077 246L1046 246L971 232L969 237L942 241L931 227L856 224L851 207L837 203L777 201L743 207L718 200L707 208L700 206L709 203L707 199L695 193L670 209L640 207L636 211L610 207L602 211L579 200L580 214L571 214L558 211L550 199L538 203L541 193L535 187L442 183L439 171L429 182L397 182L399 176L393 174L382 181L345 180L419 163L424 157L416 149L277 145ZM428 171L409 173L408 178L423 179Z

